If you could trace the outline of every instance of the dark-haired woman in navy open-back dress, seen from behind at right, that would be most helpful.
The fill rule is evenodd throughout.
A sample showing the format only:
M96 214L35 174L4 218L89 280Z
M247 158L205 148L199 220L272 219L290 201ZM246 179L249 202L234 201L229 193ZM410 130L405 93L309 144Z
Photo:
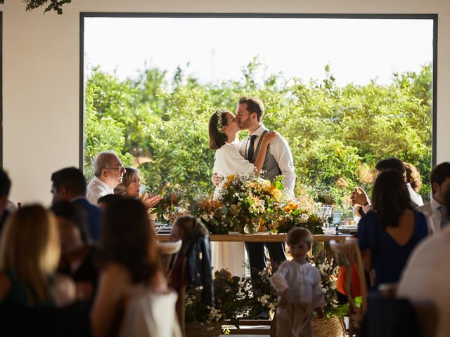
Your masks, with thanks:
M406 260L428 235L425 216L414 211L404 178L385 171L375 180L373 210L359 221L358 242L367 271L375 269L375 286L398 282Z

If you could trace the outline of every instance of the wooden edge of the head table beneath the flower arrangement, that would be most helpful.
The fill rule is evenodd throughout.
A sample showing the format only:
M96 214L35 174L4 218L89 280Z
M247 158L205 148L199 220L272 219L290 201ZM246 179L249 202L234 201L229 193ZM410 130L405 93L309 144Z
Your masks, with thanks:
M286 234L273 234L259 232L257 234L211 234L210 240L214 242L285 242ZM316 234L312 236L314 242L345 241L350 234ZM169 234L157 234L158 242L169 241Z

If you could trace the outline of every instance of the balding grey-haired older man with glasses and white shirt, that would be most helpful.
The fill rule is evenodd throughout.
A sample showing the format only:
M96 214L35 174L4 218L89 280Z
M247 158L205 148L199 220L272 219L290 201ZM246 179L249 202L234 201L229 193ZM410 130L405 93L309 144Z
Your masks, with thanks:
M94 178L86 188L86 199L97 205L100 197L114 194L114 189L122 183L125 169L122 161L113 152L105 151L94 159Z

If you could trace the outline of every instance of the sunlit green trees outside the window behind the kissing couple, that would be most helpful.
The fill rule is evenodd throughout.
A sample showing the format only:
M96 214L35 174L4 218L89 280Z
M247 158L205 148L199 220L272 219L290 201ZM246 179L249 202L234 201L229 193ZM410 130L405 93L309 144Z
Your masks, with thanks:
M213 85L186 77L181 67L172 79L157 68L126 80L94 69L86 83L85 167L98 151L113 149L127 163L145 163L139 169L147 185L169 181L193 198L210 194L210 115L217 107L233 111L240 96L255 95L264 102L264 124L290 144L297 189L342 202L356 185L370 190L361 167L398 157L419 169L420 194L429 199L431 64L394 74L389 86L340 87L330 65L323 81L285 79L265 74L257 58L242 74L240 81Z

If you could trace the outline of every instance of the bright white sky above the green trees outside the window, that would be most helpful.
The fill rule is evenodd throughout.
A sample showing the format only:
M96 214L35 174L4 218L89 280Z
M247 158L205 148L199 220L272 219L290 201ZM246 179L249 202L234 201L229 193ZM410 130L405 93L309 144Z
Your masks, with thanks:
M265 74L323 79L329 63L339 85L388 84L432 61L432 20L86 18L84 32L86 73L100 65L120 78L189 63L202 82L239 80L258 56Z

